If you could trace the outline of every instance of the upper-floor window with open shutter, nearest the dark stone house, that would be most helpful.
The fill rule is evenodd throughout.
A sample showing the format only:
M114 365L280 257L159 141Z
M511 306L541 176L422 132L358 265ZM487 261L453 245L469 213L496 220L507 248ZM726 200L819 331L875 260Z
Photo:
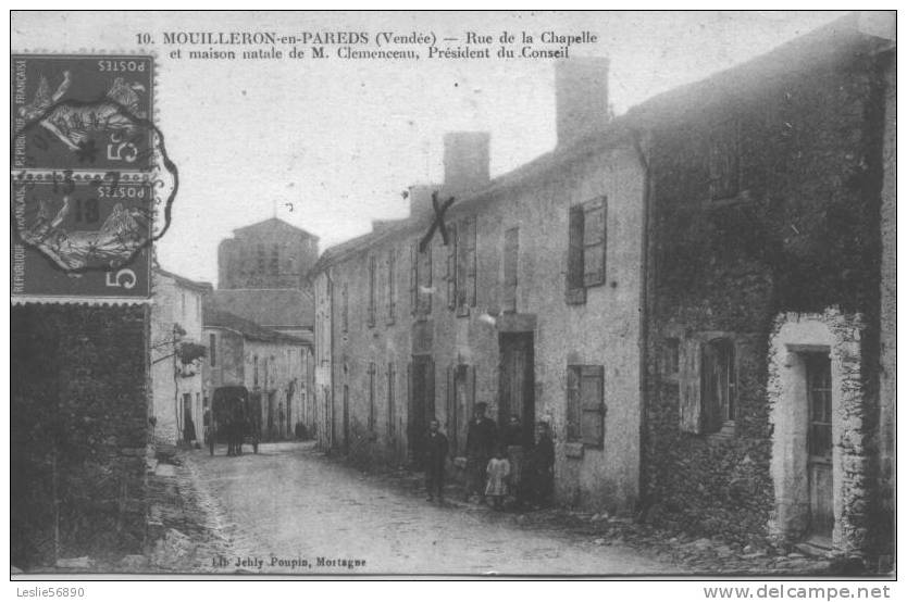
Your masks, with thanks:
M586 288L605 284L608 200L598 197L570 208L567 302L586 302Z

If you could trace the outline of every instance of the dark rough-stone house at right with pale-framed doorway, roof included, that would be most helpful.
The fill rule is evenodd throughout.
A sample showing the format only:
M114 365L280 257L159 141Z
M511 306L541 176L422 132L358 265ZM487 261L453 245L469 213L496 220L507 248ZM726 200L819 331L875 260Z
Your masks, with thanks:
M625 115L649 165L651 519L891 548L893 55L850 15Z

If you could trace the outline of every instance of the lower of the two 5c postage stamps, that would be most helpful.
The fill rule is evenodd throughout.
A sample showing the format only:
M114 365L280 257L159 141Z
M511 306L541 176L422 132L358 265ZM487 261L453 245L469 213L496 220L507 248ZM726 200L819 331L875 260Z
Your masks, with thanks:
M15 296L148 297L150 181L12 185Z

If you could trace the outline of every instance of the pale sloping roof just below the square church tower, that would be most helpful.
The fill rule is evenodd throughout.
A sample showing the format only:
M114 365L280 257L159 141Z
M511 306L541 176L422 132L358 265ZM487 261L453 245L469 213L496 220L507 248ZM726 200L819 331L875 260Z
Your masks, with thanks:
M315 323L315 302L307 290L218 289L208 304L271 328L311 328Z

